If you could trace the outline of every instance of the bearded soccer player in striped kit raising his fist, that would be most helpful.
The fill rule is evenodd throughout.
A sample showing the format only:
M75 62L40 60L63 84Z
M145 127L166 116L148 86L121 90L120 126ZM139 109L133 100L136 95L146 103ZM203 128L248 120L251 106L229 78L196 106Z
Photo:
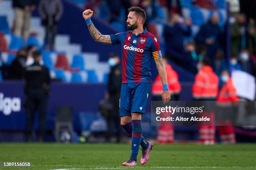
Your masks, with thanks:
M120 92L121 126L132 138L131 157L123 163L127 166L137 165L139 146L142 147L141 164L149 158L153 144L142 136L141 116L146 111L146 103L151 90L150 59L153 57L163 84L163 102L169 102L166 72L158 40L143 28L146 13L140 7L128 9L127 28L129 31L115 35L102 35L93 25L92 10L85 10L83 17L95 42L122 45L122 85Z

